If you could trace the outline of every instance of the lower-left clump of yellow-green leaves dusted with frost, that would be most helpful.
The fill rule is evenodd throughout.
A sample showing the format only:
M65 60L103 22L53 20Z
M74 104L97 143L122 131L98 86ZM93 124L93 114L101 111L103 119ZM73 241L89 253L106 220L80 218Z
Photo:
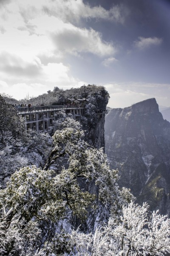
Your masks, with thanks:
M66 217L68 209L83 216L92 199L93 195L80 190L75 175L64 169L55 177L53 170L44 172L36 166L15 172L0 191L1 255L3 251L26 255L28 250L34 255L38 247L48 251L46 245L59 253L59 243L55 247L53 242L57 236L62 238L56 233L57 222Z

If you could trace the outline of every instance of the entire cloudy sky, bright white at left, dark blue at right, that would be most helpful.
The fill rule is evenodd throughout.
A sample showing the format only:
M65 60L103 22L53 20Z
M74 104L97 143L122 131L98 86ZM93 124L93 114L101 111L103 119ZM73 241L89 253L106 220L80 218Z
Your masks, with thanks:
M0 93L87 84L169 107L170 0L0 0Z

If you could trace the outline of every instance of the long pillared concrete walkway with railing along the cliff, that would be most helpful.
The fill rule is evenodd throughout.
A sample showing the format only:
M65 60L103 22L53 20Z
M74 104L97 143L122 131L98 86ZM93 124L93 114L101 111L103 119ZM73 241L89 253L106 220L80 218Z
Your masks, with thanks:
M74 117L82 116L85 113L85 107L77 105L57 105L57 106L33 106L16 108L18 115L26 120L26 129L34 129L36 131L48 131L49 126L57 119L60 110L71 113Z

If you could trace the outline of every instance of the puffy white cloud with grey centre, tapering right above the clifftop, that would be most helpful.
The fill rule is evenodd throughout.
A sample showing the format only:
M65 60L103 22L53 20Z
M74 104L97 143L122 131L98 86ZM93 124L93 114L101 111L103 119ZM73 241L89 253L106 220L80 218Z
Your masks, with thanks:
M62 30L51 33L57 51L77 54L79 52L91 52L98 56L111 55L116 49L111 43L102 41L102 36L94 29L80 29L69 25Z

